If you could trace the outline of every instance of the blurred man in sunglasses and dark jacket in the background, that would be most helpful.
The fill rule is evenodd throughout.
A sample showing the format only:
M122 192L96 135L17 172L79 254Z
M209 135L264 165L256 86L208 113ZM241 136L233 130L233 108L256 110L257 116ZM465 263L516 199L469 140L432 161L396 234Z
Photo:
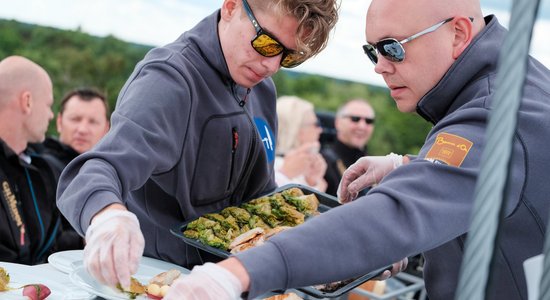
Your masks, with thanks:
M321 154L327 163L325 181L328 194L336 196L344 171L367 155L367 143L374 132L374 109L364 99L352 99L336 112L336 140Z

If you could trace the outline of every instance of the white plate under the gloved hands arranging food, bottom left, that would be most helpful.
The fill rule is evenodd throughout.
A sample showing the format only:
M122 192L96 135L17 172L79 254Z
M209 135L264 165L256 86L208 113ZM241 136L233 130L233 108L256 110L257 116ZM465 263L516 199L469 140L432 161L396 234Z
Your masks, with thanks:
M139 282L141 282L142 284L146 284L155 275L168 271L170 269L178 269L182 272L182 274L189 273L189 270L182 268L178 265L149 257L142 257L138 271L136 274L133 275L133 277L139 280ZM84 266L79 266L75 270L73 270L70 273L69 278L75 285L96 296L100 296L108 300L129 299L128 294L124 294L118 290L97 282L90 274L88 274L88 272L84 269ZM144 295L141 295L136 299L145 300L148 298Z

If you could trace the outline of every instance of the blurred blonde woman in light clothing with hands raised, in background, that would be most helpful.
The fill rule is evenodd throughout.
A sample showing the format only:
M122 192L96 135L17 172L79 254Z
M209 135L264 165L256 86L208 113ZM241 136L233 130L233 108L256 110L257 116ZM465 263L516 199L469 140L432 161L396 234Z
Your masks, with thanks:
M275 181L299 183L324 192L327 164L319 153L321 127L313 104L295 96L277 100Z

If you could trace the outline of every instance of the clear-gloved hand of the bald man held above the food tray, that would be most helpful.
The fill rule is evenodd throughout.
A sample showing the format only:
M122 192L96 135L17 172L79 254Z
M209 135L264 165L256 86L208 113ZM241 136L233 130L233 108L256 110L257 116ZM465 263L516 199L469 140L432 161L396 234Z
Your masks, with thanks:
M386 156L361 157L342 175L337 192L338 201L340 203L353 201L361 190L377 184L402 164L403 156L394 153Z

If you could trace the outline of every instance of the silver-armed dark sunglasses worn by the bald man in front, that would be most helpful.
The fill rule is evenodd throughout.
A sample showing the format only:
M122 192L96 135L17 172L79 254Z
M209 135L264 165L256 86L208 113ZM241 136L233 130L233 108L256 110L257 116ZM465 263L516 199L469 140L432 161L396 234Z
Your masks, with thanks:
M403 44L408 43L420 36L423 36L426 33L436 31L437 29L439 29L439 27L445 25L446 23L452 21L453 19L454 17L445 19L401 41L398 41L394 38L387 38L387 39L378 41L374 45L365 44L363 45L363 51L365 51L365 54L370 58L372 63L375 65L378 63L378 53L380 53L382 56L384 56L388 60L391 60L394 62L402 62L405 59L405 48L403 48ZM473 22L474 18L470 17L470 21Z

